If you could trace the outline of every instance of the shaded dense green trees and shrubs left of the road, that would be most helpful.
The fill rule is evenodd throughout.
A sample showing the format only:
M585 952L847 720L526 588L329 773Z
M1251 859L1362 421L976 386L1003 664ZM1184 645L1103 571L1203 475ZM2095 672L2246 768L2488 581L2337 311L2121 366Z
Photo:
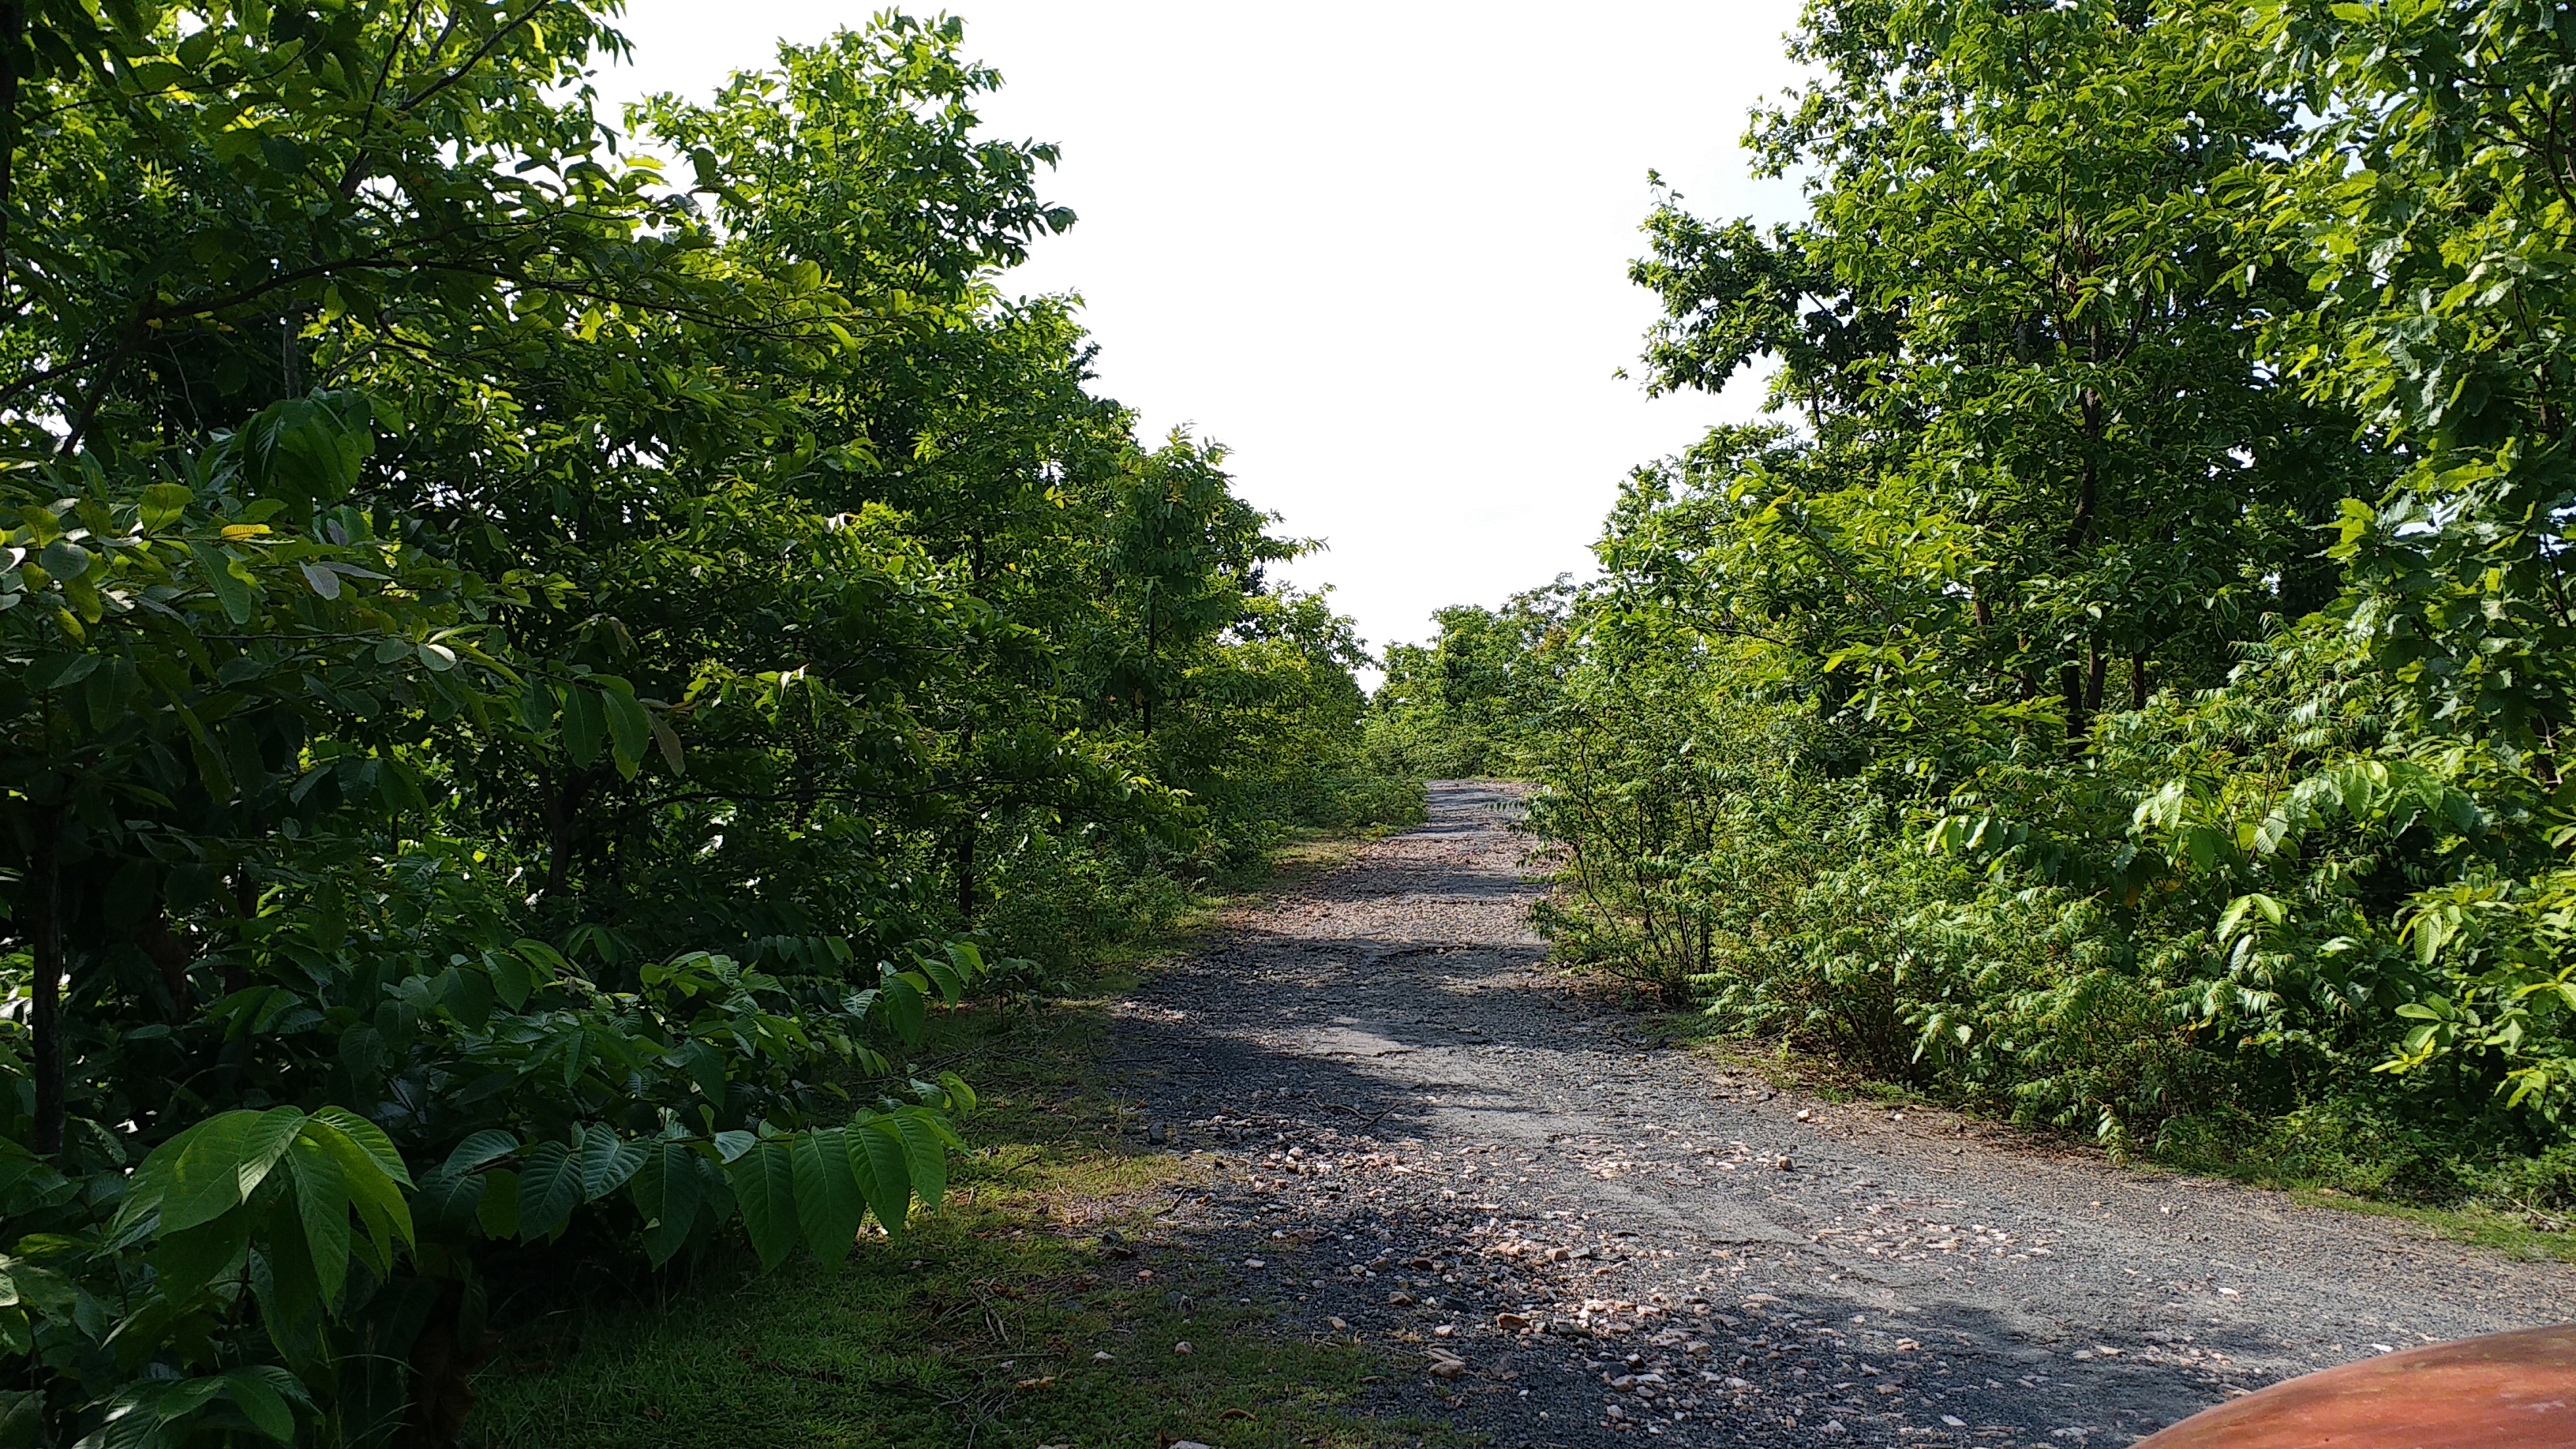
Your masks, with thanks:
M938 1201L925 1016L1360 768L953 21L0 3L0 1441L451 1441L495 1274Z

